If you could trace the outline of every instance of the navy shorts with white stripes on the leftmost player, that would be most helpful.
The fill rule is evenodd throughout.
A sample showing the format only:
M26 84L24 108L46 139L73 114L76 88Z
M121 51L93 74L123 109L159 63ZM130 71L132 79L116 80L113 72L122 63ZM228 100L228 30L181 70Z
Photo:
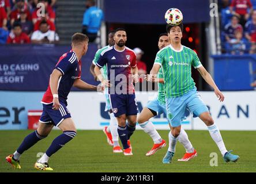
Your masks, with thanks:
M39 122L54 124L58 127L63 120L70 118L70 112L67 110L66 105L61 101L59 104L61 104L59 110L52 109L52 103L47 105L43 104L43 113L39 119Z

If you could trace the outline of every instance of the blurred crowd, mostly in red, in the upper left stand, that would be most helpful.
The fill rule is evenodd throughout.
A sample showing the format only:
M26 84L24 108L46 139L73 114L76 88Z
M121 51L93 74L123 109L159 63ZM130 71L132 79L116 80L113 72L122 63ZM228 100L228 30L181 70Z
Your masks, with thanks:
M58 43L56 1L0 0L0 43Z

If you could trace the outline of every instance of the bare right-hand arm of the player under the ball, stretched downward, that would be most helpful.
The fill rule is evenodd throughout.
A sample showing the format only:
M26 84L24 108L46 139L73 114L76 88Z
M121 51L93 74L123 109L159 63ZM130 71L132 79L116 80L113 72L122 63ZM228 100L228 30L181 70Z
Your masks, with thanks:
M204 78L205 81L208 83L208 85L213 87L214 93L219 98L219 101L223 102L224 101L224 95L221 93L219 88L216 86L216 84L213 81L212 76L210 76L209 72L205 70L205 67L201 66L201 67L197 68L197 70L202 75L202 78Z

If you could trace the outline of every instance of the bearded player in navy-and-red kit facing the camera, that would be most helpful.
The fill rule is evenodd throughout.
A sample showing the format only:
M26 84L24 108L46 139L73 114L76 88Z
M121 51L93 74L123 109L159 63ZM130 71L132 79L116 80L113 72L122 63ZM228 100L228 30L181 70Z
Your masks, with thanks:
M127 40L125 29L116 29L114 40L114 46L101 52L95 66L95 74L99 81L108 87L111 109L118 120L118 135L123 145L123 154L133 155L130 136L135 131L138 113L133 86L133 82L138 82L136 55L132 49L125 47ZM107 79L100 71L105 65ZM127 124L126 120L128 120Z

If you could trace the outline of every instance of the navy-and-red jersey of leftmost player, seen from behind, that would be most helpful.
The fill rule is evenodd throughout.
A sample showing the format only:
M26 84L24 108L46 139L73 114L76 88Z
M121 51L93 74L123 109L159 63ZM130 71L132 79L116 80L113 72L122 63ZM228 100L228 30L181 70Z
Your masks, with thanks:
M62 101L67 105L67 95L69 95L74 81L81 78L81 60L78 61L76 53L71 50L59 58L55 69L62 73L58 83L59 101ZM53 97L49 83L46 93L44 93L42 104L51 104L52 100Z

